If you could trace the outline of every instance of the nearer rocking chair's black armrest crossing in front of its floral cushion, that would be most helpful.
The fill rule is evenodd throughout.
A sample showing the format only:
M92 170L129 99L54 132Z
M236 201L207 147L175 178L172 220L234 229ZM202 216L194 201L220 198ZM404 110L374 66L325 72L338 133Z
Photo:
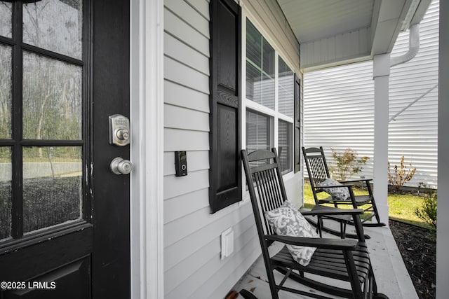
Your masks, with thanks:
M357 249L357 240L355 239L328 239L328 238L312 238L312 237L291 237L279 235L265 235L265 239L269 241L278 241L284 244L297 246L310 246L322 249L340 249L355 250Z

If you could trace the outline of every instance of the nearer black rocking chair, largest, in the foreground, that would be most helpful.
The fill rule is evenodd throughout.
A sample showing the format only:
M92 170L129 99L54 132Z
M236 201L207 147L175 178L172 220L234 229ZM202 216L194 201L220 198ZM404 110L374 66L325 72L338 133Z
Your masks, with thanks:
M363 213L362 209L333 208L331 211L334 214L342 211L342 213L350 214L353 217L358 240L276 235L265 218L265 211L276 209L287 200L276 148L273 148L272 151L255 151L250 154L246 153L246 150L242 150L241 155L272 298L278 299L280 290L312 298L329 298L314 291L307 292L284 286L288 278L309 288L344 298L388 298L386 295L377 293L373 268L364 242L363 227L358 216ZM326 210L315 212L312 210L310 213L323 216L328 214L329 211ZM311 246L317 249L311 257L309 265L304 266L293 259L286 246L283 246L279 253L270 257L268 247L275 241ZM279 284L274 279L274 270L285 275ZM315 277L318 275L320 281L309 277L310 274L314 274ZM332 279L349 281L350 287L341 288L326 284Z

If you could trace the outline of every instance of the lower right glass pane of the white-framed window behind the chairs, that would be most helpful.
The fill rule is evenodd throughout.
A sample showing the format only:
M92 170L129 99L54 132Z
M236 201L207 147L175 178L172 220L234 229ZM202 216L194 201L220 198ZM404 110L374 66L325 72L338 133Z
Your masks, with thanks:
M293 134L292 134L292 124L287 123L283 120L279 120L279 140L278 140L278 155L279 162L281 162L281 172L291 172L293 170L292 162L292 149L293 149Z

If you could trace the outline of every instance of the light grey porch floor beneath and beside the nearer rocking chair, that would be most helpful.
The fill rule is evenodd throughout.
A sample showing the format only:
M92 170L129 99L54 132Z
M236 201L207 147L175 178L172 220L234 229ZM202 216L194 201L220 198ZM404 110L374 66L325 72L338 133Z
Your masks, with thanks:
M347 232L354 230L354 227L349 225ZM377 289L379 293L384 293L390 299L417 299L417 293L415 287L410 279L410 275L407 272L406 266L403 263L401 253L396 246L393 235L388 227L374 227L363 228L366 235L370 236L370 239L366 239L368 248L370 249L371 263L375 272L375 279L377 281ZM323 237L335 237L333 235L323 234ZM270 251L279 251L282 245L273 244ZM276 281L280 281L282 276L277 273ZM279 280L278 280L279 279ZM304 291L309 291L310 288L297 284L295 281L288 279L286 286L293 286L294 288L300 288ZM344 283L338 282L336 285L345 286ZM233 290L240 291L242 288L247 291L253 291L253 294L258 299L271 298L269 285L267 282L267 272L264 268L264 261L262 256L257 258L250 270L243 276L239 282L234 286ZM321 292L315 291L314 293L320 294ZM321 293L323 295L328 295ZM237 297L243 298L241 295ZM279 292L279 298L281 299L297 299L308 298L303 295L297 295L295 293L288 293L285 291ZM331 298L340 298L333 296Z

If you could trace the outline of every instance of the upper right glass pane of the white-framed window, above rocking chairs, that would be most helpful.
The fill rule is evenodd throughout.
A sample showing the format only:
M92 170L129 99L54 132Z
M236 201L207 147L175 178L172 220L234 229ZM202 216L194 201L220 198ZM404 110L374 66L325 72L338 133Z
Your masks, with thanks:
M286 62L279 57L279 112L293 118L295 77Z

